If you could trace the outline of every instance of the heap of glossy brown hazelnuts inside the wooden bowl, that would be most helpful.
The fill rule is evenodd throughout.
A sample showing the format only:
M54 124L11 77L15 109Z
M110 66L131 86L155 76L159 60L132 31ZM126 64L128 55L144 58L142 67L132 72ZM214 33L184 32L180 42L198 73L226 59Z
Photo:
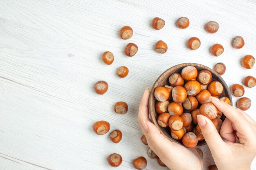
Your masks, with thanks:
M170 128L171 137L182 139L184 146L189 148L194 148L198 141L204 139L197 115L211 119L220 132L222 113L209 97L219 98L224 88L220 82L212 81L210 71L198 71L194 66L186 66L181 73L171 74L168 82L170 85L157 87L154 91L159 126ZM221 97L220 100L230 104L228 97Z

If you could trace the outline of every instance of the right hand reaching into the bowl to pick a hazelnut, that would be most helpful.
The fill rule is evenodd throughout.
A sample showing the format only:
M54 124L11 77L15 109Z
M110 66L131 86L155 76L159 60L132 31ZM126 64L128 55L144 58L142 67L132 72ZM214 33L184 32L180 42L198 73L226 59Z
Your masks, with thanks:
M211 97L211 102L226 116L220 135L227 141L222 141L210 119L203 115L197 118L218 170L250 170L256 156L256 122L215 97Z

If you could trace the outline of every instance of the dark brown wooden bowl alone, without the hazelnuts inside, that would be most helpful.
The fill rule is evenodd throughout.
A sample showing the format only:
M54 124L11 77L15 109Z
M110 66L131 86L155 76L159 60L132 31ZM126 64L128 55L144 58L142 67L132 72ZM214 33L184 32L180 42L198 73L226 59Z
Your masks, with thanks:
M216 80L218 82L220 82L224 88L223 93L219 96L219 97L228 97L230 99L230 103L232 105L232 97L231 97L231 92L229 91L229 88L227 86L227 84L225 83L225 81L220 77L220 75L218 75L218 73L216 73L215 71L213 71L211 68L201 65L201 64L195 64L195 63L184 63L184 64L178 64L176 66L173 66L171 68L169 68L168 70L164 71L164 73L162 73L162 75L160 75L157 80L155 81L153 87L151 88L151 92L150 92L150 96L149 96L149 105L148 105L148 109L149 109L149 115L150 118L152 120L152 122L155 124L155 126L160 130L160 132L170 141L176 142L178 144L182 144L182 141L177 141L175 139L173 139L171 137L171 130L170 128L162 128L161 126L158 125L157 123L157 117L159 114L156 113L155 110L155 103L157 102L157 100L154 97L154 91L155 88L159 87L159 86L164 86L164 85L169 85L168 82L168 78L171 74L173 73L181 73L182 69L186 66L194 66L195 68L197 68L198 71L200 70L208 70L211 72L212 74L212 81ZM222 121L224 121L225 119L225 115L222 115L221 119ZM198 141L198 145L202 146L206 144L206 142L203 141ZM182 144L183 145L183 144Z

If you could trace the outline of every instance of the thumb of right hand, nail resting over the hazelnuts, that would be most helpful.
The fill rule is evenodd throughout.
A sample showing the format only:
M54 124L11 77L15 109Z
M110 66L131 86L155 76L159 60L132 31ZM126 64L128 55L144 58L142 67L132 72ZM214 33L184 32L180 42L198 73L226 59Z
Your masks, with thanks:
M212 155L217 155L220 152L220 148L224 146L216 127L213 122L203 115L197 115L198 124L202 130L202 135L211 150Z

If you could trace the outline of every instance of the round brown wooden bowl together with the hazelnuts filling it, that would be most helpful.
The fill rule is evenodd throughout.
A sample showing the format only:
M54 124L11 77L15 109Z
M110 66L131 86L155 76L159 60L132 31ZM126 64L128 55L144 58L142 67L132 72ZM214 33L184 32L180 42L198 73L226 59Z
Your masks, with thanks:
M151 88L150 118L170 141L189 148L202 146L206 142L196 116L211 119L218 132L225 119L210 96L232 105L231 92L218 73L201 64L178 64L164 71Z

